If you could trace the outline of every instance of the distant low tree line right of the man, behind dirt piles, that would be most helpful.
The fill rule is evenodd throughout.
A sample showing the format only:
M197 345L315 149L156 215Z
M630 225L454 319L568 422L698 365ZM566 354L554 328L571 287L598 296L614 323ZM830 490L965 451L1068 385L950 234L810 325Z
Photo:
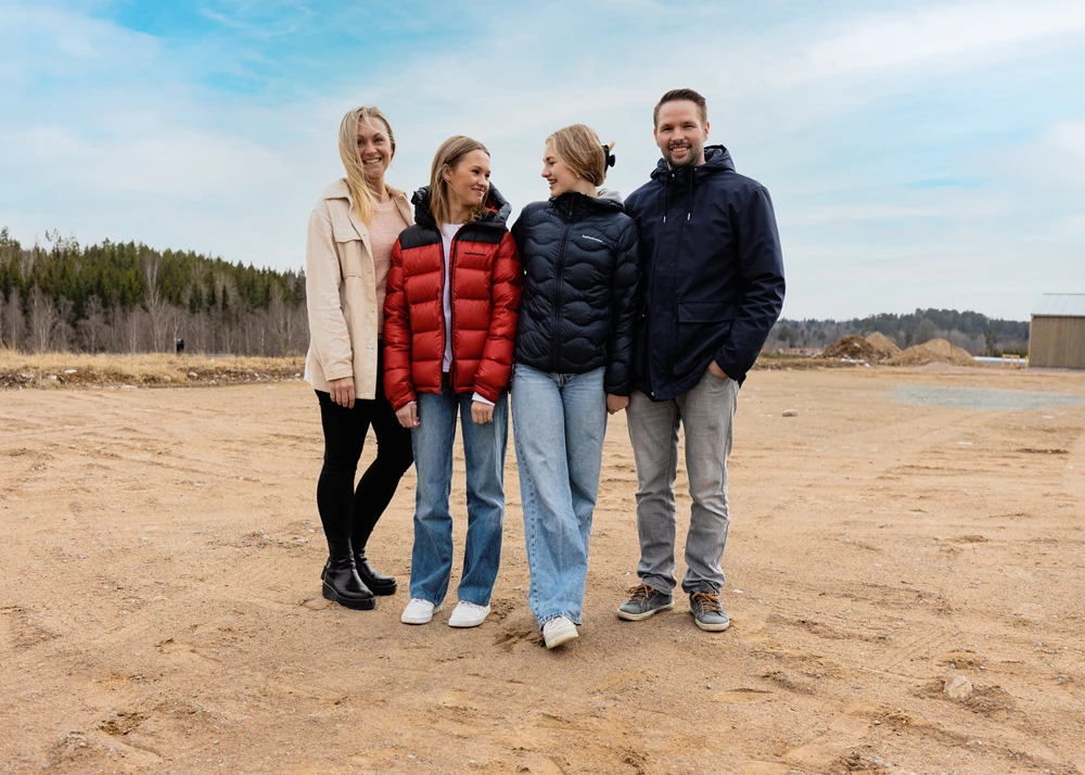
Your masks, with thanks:
M1029 352L1029 323L988 318L980 313L956 309L917 309L910 315L871 315L852 320L780 319L769 334L766 350L826 347L841 336L866 336L878 331L901 348L945 339L972 355L1001 355Z

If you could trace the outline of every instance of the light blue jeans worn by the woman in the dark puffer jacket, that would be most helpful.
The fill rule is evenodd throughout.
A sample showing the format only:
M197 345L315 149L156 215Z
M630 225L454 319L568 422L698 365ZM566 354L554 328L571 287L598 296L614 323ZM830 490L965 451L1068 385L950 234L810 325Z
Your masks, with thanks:
M539 626L558 617L580 623L607 435L604 371L556 374L516 364L512 380L527 601Z

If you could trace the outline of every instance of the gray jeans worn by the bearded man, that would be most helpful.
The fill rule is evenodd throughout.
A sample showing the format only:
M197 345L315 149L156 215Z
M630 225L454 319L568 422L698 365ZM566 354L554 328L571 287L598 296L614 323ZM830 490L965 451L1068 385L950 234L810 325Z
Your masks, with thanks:
M637 460L637 531L643 583L665 592L675 588L675 477L678 473L678 424L686 431L689 474L689 533L686 576L681 587L697 592L702 581L717 592L724 586L719 563L727 546L727 456L739 386L705 371L697 386L672 401L653 402L640 392L629 398L629 440Z

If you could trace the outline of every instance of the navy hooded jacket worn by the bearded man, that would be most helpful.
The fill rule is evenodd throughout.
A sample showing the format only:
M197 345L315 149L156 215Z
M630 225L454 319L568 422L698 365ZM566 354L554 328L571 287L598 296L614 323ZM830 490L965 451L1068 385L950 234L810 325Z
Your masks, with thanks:
M713 360L741 384L783 307L783 256L768 191L723 145L652 179L625 209L640 231L644 303L635 383L654 401L690 390Z

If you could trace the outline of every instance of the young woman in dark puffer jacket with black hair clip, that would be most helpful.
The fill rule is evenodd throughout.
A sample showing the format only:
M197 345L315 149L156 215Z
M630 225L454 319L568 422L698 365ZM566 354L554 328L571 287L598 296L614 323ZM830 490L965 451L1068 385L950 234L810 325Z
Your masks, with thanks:
M548 137L550 200L524 207L512 227L524 267L512 422L527 597L547 648L577 636L607 412L633 391L637 227L598 188L610 151L583 124Z

